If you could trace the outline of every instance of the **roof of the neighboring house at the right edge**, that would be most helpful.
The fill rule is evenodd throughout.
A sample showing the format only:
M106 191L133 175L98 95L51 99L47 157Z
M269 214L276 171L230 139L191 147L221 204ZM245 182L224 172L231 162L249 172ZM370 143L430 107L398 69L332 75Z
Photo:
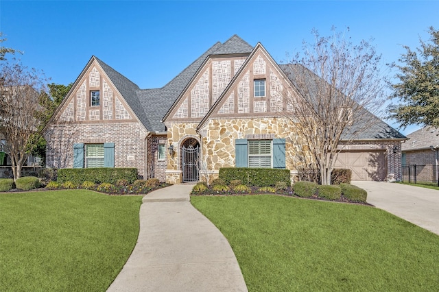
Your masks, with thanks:
M430 146L439 147L439 129L423 127L412 134L408 134L408 141L403 143L402 151L429 149Z

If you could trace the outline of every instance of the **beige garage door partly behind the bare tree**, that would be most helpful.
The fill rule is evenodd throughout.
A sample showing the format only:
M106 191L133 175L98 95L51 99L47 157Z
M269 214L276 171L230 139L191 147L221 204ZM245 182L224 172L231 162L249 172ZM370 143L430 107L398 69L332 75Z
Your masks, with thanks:
M334 168L351 169L352 180L385 180L385 151L342 151Z

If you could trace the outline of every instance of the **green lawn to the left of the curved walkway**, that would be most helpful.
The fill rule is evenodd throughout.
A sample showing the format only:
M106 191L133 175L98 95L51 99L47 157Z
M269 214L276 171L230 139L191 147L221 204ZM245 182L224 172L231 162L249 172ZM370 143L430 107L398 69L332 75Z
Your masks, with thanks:
M141 199L0 194L0 291L105 291L136 244Z

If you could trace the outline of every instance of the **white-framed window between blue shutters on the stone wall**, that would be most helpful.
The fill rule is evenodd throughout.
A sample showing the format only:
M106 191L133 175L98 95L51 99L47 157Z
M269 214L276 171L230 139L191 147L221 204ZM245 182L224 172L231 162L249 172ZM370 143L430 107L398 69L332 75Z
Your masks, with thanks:
M248 141L248 167L268 169L272 167L271 140Z

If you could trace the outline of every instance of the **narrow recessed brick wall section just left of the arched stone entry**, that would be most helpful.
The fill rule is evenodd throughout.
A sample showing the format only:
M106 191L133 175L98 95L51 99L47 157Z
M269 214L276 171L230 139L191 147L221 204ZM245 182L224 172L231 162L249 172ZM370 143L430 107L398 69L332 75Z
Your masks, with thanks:
M166 158L164 160L158 160L158 144L165 144L167 153L168 143L166 136L152 136L147 138L147 178L158 178L161 182L165 182L167 160Z

